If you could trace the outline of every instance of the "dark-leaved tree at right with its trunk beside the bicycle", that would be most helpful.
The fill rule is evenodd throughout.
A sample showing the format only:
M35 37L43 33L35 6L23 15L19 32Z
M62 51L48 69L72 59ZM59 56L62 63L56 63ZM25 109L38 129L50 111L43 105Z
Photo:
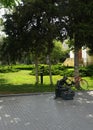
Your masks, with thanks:
M93 1L59 1L61 11L64 9L64 24L67 35L70 37L70 39L74 39L74 68L75 77L77 77L79 76L79 49L84 45L89 47L93 46ZM63 13L60 13L60 17L63 19Z

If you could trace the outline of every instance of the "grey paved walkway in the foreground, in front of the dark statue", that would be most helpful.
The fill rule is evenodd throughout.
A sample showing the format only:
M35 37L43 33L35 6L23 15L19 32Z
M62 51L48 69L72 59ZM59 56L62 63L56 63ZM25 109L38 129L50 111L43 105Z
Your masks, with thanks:
M72 101L53 94L0 97L0 130L93 130L93 91Z

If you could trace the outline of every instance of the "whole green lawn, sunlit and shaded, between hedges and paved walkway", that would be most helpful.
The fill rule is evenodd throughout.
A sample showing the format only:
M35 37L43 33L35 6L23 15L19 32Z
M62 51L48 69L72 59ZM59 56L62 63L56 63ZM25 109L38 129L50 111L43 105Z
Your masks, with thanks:
M50 85L49 76L44 76L43 85L35 84L35 76L30 75L30 70L0 73L0 94L53 92L56 82L62 77L53 76L53 85ZM85 77L89 83L89 90L93 90L93 77ZM40 80L40 77L39 77Z

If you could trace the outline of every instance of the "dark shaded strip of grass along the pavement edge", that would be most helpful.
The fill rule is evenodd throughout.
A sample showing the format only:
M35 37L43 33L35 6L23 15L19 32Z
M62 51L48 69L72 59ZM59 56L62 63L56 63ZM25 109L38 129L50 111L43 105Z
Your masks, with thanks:
M20 94L20 93L42 93L42 92L54 92L55 85L36 85L36 84L4 84L0 85L1 94Z

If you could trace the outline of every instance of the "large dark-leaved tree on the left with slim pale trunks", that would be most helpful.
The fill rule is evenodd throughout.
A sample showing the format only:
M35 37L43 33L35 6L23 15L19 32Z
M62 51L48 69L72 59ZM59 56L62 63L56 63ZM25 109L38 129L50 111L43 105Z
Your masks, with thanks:
M59 23L58 12L58 5L54 1L35 0L24 1L16 7L13 14L5 15L4 25L8 36L6 50L14 48L15 57L24 52L33 53L36 65L36 83L38 83L38 57L48 54L50 58L53 39L61 38L60 26L62 24ZM8 54L11 55L11 51L8 51ZM51 66L50 62L49 66Z

